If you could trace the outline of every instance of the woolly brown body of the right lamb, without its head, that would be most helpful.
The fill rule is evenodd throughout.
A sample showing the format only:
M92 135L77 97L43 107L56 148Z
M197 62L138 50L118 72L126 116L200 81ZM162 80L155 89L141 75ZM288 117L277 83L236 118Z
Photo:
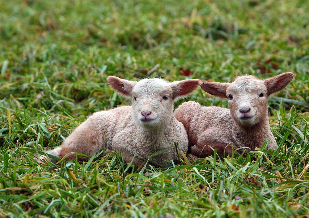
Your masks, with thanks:
M268 149L277 148L268 117L245 130L236 125L229 109L203 107L194 101L184 102L174 115L184 124L191 153L198 157L214 154L213 149L217 149L218 155L228 155L231 154L231 146L240 154L247 149L247 154L256 147L260 148L266 140L270 140Z

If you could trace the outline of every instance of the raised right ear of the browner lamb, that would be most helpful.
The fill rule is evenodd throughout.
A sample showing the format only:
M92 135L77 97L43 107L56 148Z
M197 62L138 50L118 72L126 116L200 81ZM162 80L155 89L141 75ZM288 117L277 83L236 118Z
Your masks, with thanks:
M294 76L294 73L287 72L264 80L264 84L267 88L267 94L270 95L282 90L290 83L290 81L293 80Z

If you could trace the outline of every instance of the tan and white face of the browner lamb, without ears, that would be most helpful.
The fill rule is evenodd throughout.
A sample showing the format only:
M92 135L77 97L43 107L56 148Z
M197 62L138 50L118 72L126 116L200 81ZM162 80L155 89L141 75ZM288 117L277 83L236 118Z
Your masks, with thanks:
M253 126L267 114L267 88L263 81L240 77L226 89L233 119L243 126Z

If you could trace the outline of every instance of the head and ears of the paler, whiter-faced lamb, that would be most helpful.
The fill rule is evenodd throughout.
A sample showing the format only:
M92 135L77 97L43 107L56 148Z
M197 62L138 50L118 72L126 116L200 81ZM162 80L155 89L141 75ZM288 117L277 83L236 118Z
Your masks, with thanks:
M173 116L174 101L192 93L200 80L167 82L163 79L143 79L138 82L108 76L110 86L124 97L132 99L133 121L150 130L163 129Z

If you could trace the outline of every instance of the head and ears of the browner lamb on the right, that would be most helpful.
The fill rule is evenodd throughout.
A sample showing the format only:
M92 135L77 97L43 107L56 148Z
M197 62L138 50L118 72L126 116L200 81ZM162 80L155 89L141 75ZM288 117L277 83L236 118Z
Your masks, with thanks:
M291 72L266 80L240 76L232 83L203 82L201 88L214 96L227 98L234 121L240 127L248 128L265 120L268 96L285 88L293 78Z

